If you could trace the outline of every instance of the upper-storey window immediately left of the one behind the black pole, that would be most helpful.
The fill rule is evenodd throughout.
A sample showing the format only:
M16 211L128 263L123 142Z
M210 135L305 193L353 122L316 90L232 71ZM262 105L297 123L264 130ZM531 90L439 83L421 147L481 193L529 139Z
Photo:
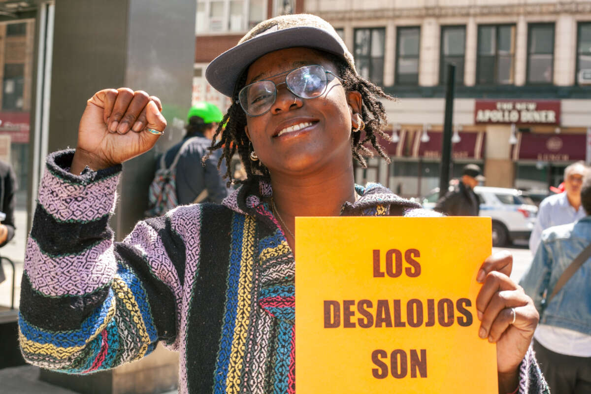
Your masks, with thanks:
M404 85L418 84L418 54L421 28L399 27L396 33L395 82Z

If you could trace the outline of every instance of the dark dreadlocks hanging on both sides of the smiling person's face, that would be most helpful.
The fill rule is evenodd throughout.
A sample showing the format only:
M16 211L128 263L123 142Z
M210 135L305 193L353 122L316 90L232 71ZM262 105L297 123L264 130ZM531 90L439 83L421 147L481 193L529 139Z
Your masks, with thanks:
M361 118L365 123L365 129L363 129L363 132L356 132L352 135L351 150L353 157L363 168L366 168L367 162L365 157L374 156L374 152L365 146L367 142L370 142L375 151L389 163L390 159L379 142L379 138L389 141L390 136L384 132L384 129L388 124L388 119L384 105L378 100L378 98L388 100L395 100L395 98L385 93L381 87L356 74L355 71L353 71L351 67L340 58L326 52L317 52L322 54L322 56L327 57L333 64L335 64L339 71L339 77L342 80L341 83L347 92L356 90L361 93ZM222 122L219 123L219 126L216 129L216 133L212 139L212 145L207 148L209 153L203 158L203 160L206 160L213 151L223 149L222 156L217 162L217 168L219 170L222 161L226 161L227 170L226 174L223 175L223 178L228 178L228 187L233 183L249 183L256 180L256 178L264 178L265 180L270 179L268 168L265 167L261 161L251 160L250 154L253 151L253 148L250 140L246 136L246 132L244 131L246 126L246 114L238 102L238 93L246 84L247 72L248 69L246 69L238 79L232 94L232 105L230 105L228 112L223 116ZM220 136L219 141L218 136ZM230 168L232 157L237 151L246 170L246 179L242 181L233 179L232 169Z

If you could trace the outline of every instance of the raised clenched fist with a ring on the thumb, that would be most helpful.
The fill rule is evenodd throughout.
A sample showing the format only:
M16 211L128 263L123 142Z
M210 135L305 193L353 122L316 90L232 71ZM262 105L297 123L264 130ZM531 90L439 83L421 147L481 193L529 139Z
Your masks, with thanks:
M166 127L161 110L160 99L142 90L96 92L80 119L70 172L101 170L149 151Z

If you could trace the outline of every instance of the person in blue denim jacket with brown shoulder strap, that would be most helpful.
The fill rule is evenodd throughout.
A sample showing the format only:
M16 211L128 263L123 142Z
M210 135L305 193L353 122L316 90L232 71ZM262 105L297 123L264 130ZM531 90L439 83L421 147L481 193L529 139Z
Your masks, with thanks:
M582 219L544 230L534 261L519 283L540 313L534 333L540 367L551 392L560 394L591 393L589 170L580 188L580 204L586 213Z

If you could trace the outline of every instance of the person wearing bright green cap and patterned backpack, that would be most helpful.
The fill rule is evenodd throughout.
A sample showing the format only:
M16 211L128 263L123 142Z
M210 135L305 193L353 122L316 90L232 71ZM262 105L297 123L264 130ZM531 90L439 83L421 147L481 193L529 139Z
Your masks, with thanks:
M208 102L197 102L187 113L187 126L184 138L172 146L164 154L167 168L176 164L176 190L179 205L211 202L220 204L228 196L226 182L221 174L226 167L217 170L221 152L216 151L202 164L207 154L207 147L212 144L217 125L222 121L223 114L216 105Z

